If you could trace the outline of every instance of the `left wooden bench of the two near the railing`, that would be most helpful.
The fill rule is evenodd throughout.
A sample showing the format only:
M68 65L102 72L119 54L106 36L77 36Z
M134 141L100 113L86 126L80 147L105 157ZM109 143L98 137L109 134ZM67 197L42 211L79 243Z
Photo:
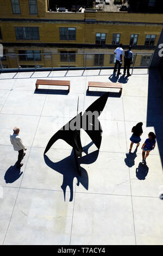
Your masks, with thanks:
M39 84L44 86L68 86L68 92L70 92L70 81L37 79L36 90L39 88Z

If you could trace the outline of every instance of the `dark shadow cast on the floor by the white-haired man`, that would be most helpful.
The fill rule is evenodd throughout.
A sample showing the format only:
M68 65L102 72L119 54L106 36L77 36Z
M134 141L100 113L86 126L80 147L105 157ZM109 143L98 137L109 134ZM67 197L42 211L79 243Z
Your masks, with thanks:
M6 183L13 183L22 175L23 172L21 172L20 168L16 167L16 163L14 164L14 166L10 166L6 171L4 175L4 180Z

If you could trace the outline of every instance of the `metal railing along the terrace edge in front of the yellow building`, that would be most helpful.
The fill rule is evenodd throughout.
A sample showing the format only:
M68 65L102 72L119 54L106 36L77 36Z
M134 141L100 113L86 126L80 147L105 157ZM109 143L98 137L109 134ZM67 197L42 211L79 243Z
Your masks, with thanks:
M153 53L134 53L130 68L149 68L152 56ZM114 53L15 53L0 57L0 72L113 69L114 65Z

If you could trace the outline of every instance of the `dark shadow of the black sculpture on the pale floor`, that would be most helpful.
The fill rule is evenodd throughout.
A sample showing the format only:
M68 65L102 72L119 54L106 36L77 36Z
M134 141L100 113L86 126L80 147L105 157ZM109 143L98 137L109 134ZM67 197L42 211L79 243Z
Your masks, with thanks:
M83 167L81 167L80 164L83 164L83 163L90 164L97 160L99 150L93 151L90 154L88 154L88 149L91 147L92 144L93 142L86 145L83 148L86 155L78 158L79 167L82 173L81 176L78 175L78 171L74 161L73 150L70 156L66 157L65 159L62 159L59 162L52 162L47 155L43 155L47 166L49 166L53 170L63 175L63 182L62 182L61 188L64 192L64 199L66 197L66 187L67 186L70 187L70 202L73 200L73 179L74 178L77 178L77 186L79 186L79 184L81 183L85 187L85 189L88 190L89 178L86 170Z

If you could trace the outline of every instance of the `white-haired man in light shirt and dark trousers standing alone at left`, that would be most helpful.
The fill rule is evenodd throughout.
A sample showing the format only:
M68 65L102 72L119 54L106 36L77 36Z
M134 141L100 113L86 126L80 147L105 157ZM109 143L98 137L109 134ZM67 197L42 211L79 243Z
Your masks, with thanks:
M26 155L26 153L24 153L24 150L27 150L27 149L24 147L20 136L18 136L20 129L18 127L14 127L13 131L14 133L10 135L10 141L14 147L14 150L18 151L18 159L17 159L16 167L21 168L23 166L23 163L21 163L21 161L24 155Z

